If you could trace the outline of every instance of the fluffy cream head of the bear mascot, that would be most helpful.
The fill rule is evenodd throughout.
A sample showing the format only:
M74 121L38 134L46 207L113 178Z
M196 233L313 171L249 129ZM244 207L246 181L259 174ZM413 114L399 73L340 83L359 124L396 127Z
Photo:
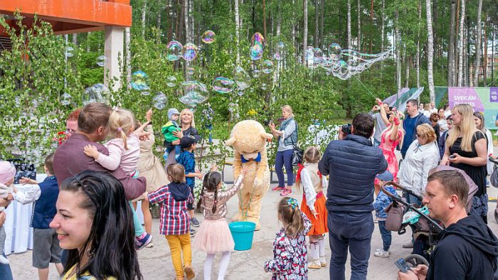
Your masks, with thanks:
M245 159L250 160L257 158L265 149L266 141L272 138L272 134L266 133L263 125L248 119L233 126L230 139L225 145L232 146L234 151L238 151Z

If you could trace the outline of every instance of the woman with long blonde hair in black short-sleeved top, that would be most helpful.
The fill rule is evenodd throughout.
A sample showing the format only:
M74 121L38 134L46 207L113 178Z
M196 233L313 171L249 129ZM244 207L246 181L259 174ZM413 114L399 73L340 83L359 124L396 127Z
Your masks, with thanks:
M472 198L470 214L480 215L487 223L487 142L484 133L475 126L473 113L469 104L453 107L453 128L448 131L441 164L462 169L472 178L478 188Z

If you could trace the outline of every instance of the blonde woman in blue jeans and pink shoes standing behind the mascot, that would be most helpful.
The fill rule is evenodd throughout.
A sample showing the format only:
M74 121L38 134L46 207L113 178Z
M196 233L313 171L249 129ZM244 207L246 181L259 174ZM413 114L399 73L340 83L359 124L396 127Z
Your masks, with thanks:
M272 188L273 191L280 191L280 195L287 196L292 194L292 184L294 183L294 172L292 171L292 151L294 146L297 145L297 122L292 114L292 108L289 105L282 106L282 117L284 121L280 124L279 129L275 129L275 124L270 122L270 130L273 136L277 137L278 148L277 156L275 157L275 172L278 177L278 185ZM287 173L287 186L284 180L284 171L282 168L285 166Z

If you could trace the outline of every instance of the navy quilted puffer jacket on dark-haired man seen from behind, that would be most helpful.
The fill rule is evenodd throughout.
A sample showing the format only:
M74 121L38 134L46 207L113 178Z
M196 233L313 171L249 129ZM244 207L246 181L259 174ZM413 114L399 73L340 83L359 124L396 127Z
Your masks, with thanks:
M348 135L344 140L331 141L318 168L324 176L330 175L327 210L373 211L373 181L386 171L387 161L369 139Z

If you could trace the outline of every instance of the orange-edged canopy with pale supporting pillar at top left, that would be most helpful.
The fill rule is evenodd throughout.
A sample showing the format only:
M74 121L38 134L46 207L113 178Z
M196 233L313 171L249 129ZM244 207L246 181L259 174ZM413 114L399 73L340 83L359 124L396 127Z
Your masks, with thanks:
M23 24L32 26L35 15L51 23L55 34L105 31L105 77L108 84L120 77L123 57L123 31L132 26L132 6L129 0L0 0L0 16L9 26L16 28L14 13L23 16ZM0 51L10 49L11 42L0 26ZM109 73L109 75L107 75ZM120 87L117 82L115 90Z

